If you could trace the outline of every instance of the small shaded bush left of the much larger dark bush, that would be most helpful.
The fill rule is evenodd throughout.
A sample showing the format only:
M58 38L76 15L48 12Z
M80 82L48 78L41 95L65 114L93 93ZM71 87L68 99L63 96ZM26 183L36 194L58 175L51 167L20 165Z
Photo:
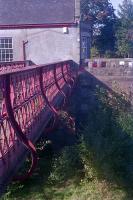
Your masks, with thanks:
M60 156L53 159L53 168L49 181L60 184L78 177L82 169L83 164L79 156L78 145L65 147Z

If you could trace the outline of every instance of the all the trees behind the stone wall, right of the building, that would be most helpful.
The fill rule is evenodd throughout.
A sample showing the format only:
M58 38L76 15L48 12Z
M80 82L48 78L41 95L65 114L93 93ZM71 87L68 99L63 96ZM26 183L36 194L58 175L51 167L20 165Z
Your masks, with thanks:
M110 0L81 0L81 8L92 39L92 58L133 57L132 0L123 0L117 12Z

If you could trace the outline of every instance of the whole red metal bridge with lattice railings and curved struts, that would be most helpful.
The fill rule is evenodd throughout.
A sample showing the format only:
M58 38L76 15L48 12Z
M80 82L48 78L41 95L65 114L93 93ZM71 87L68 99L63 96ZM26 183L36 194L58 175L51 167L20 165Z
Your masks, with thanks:
M27 66L0 64L0 191L32 155L30 176L37 163L35 142L72 89L78 70L73 61ZM24 178L24 177L23 177Z

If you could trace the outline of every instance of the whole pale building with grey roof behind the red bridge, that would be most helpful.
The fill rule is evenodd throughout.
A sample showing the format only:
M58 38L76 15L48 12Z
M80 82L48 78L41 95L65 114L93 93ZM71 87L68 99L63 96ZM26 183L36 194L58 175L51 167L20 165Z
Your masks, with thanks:
M89 46L80 0L0 0L0 62L79 63Z

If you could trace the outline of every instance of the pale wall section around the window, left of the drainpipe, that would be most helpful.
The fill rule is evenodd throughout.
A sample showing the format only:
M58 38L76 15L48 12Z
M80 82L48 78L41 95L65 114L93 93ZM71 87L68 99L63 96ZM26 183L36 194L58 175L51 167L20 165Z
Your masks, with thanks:
M23 60L23 41L26 39L25 30L0 30L0 37L13 38L13 60Z

